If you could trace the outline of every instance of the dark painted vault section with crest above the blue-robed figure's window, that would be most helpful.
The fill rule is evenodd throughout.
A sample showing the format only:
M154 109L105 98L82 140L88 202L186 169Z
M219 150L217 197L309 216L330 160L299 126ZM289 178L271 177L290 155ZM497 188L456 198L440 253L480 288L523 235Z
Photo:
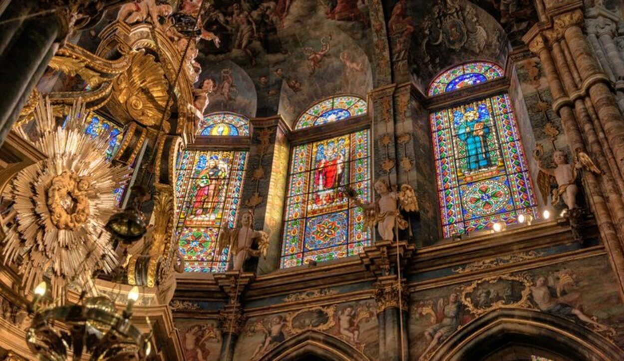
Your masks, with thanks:
M469 57L505 62L504 29L472 2L400 0L388 2L386 14L395 81L409 73L424 91L437 72Z

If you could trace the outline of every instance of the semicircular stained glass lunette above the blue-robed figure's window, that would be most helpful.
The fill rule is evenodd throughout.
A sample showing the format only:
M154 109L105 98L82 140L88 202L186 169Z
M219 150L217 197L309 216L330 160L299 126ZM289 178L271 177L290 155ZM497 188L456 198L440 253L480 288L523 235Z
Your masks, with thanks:
M474 86L481 82L502 77L502 67L492 62L468 62L460 66L452 67L443 72L431 83L429 96L435 96L444 92L455 91L463 87Z

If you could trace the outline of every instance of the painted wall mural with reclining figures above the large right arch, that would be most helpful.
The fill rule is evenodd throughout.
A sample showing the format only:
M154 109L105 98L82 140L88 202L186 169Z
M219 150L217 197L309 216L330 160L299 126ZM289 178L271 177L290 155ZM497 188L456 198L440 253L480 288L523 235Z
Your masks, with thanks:
M412 294L410 358L427 360L461 327L505 307L562 317L624 346L624 305L600 255Z

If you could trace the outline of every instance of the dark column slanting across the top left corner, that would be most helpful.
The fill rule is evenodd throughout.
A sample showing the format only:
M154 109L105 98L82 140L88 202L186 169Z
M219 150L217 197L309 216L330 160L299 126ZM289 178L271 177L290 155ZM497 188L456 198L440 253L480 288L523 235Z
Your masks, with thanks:
M8 0L0 7L0 144L74 23L89 24L105 1ZM84 17L82 17L84 15Z

